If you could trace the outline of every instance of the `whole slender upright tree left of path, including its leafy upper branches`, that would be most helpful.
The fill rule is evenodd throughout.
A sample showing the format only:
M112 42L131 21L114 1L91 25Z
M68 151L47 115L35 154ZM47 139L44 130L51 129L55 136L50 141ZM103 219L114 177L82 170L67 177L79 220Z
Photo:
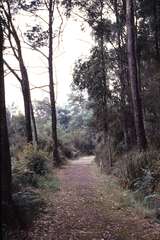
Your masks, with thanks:
M55 98L55 83L54 83L54 74L53 74L53 38L55 37L54 32L54 18L55 18L55 9L57 9L58 14L60 14L58 8L58 1L56 0L46 0L46 1L33 1L28 4L27 1L24 1L21 4L21 7L25 11L29 11L31 14L40 18L47 29L43 30L41 25L33 25L30 30L26 32L26 37L29 45L33 50L38 51L45 57L45 60L48 62L48 76L49 76L49 96L51 104L51 127L52 127L52 141L53 141L53 162L55 165L60 165L61 160L58 153L58 138L57 138L57 114L56 114L56 98ZM45 16L41 16L38 12L39 9L45 11ZM61 14L60 17L62 18ZM37 32L37 30L39 32ZM60 31L60 30L59 30ZM47 47L47 52L41 49L42 47Z

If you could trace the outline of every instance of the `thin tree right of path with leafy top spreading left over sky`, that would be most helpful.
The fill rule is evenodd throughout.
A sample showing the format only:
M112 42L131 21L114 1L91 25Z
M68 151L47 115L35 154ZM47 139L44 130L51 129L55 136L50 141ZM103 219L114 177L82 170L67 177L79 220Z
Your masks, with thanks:
M74 13L78 9L77 17L82 18L86 23L88 23L91 28L92 35L95 39L95 44L97 45L97 57L99 59L99 65L95 66L96 70L99 71L99 85L101 85L101 111L103 112L103 133L104 141L107 142L108 136L108 110L107 105L110 95L109 82L107 77L107 66L106 66L106 52L107 52L107 41L110 40L110 27L111 21L107 16L106 11L106 1L62 1L67 9L67 14L70 16L72 12ZM102 120L101 119L101 120Z

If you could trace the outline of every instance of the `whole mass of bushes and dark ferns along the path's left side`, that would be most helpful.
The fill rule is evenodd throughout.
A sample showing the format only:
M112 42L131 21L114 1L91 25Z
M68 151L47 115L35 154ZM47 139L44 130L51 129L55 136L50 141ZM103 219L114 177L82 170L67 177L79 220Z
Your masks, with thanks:
M49 152L30 144L16 150L12 164L12 214L15 218L14 223L3 224L3 239L9 239L10 234L13 234L11 226L17 231L30 227L48 204L46 193L60 189L52 166Z

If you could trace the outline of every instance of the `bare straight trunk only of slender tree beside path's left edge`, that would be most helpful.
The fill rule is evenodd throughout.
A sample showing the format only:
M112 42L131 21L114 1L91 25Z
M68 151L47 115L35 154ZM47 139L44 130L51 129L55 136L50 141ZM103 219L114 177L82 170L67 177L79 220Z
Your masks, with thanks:
M58 140L57 140L57 116L56 116L56 103L55 103L55 90L53 81L53 13L55 1L49 1L49 90L51 102L51 117L52 117L52 140L53 140L53 162L55 165L60 165L61 161L58 153Z

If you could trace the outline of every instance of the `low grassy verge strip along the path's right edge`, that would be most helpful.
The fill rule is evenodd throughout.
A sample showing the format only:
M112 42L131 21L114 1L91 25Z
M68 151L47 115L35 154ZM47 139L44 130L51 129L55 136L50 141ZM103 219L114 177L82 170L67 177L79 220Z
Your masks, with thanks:
M142 218L155 218L155 211L145 207L143 202L136 200L134 193L125 190L119 183L119 179L95 170L98 176L101 175L101 183L97 187L103 200L105 199L107 211L129 210Z

